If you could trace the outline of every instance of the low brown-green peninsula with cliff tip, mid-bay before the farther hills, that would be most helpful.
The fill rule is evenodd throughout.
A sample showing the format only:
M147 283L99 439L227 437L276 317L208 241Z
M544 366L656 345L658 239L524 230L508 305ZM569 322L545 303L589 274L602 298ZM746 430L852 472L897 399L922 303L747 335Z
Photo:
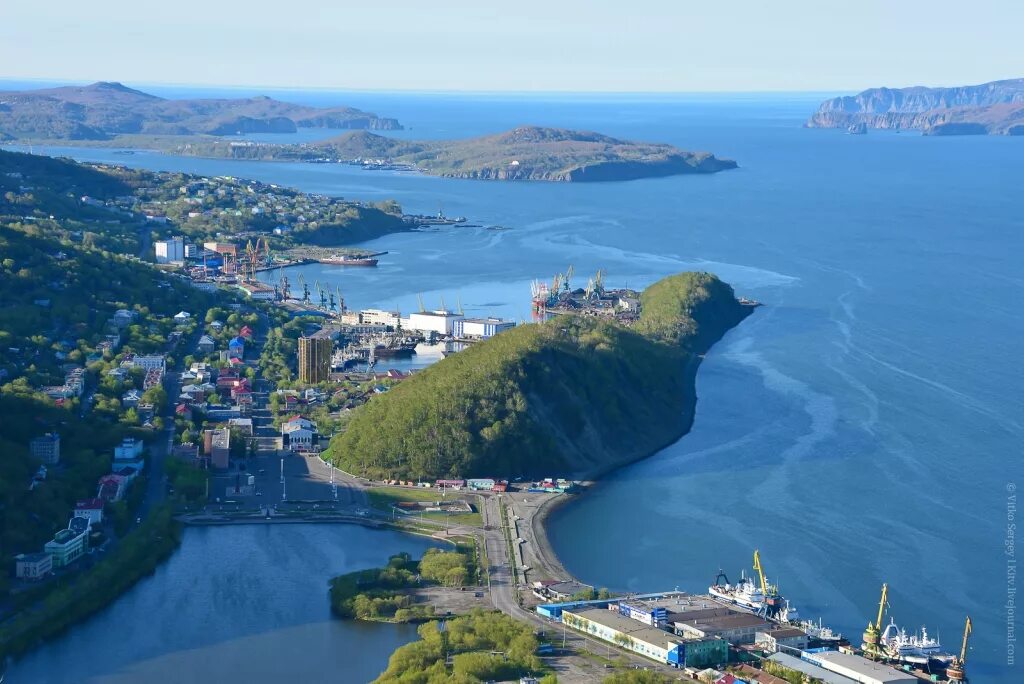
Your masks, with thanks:
M279 144L217 139L122 139L165 152L260 161L351 163L367 169L406 169L446 178L548 180L562 182L634 180L736 168L711 153L670 144L634 142L589 131L522 126L504 133L460 140L399 140L354 131L319 142Z

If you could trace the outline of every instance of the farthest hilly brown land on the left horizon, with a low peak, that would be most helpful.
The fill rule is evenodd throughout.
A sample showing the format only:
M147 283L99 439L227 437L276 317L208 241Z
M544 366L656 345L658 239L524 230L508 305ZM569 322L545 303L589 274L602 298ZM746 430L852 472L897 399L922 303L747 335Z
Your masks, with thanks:
M294 133L298 128L395 130L401 125L348 106L306 106L264 96L166 99L109 82L0 91L0 140L8 141Z

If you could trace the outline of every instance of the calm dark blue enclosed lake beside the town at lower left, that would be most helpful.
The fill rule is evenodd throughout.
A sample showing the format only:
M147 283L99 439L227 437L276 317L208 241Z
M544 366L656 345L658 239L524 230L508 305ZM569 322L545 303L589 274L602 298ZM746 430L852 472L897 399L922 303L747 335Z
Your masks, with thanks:
M16 660L4 681L362 684L416 627L333 617L328 580L431 546L357 525L190 527L153 576Z

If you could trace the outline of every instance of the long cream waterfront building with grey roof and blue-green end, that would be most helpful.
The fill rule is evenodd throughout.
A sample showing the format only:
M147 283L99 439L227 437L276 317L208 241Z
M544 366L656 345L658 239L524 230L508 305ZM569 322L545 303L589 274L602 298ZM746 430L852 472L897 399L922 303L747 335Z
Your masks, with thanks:
M701 668L726 662L729 644L723 639L682 639L671 632L650 627L596 606L562 610L562 623L627 650L678 668Z

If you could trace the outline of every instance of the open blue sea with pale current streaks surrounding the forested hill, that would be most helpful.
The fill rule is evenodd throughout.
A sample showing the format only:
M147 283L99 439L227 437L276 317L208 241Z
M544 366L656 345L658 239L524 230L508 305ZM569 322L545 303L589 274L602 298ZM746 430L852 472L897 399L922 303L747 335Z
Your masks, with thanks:
M821 99L807 94L274 94L396 117L406 137L551 125L707 149L740 168L502 183L36 152L393 198L484 226L374 241L388 252L377 269L299 269L351 307L409 310L422 295L528 319L529 282L569 264L581 286L598 268L635 288L718 273L765 306L706 359L692 431L555 517L566 567L613 590L703 591L720 567L749 573L760 549L805 616L854 641L888 582L897 623L927 626L947 649L973 617L972 681L1020 676L1008 666L1007 606L1009 497L1024 481L1024 139L804 129Z

